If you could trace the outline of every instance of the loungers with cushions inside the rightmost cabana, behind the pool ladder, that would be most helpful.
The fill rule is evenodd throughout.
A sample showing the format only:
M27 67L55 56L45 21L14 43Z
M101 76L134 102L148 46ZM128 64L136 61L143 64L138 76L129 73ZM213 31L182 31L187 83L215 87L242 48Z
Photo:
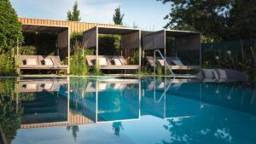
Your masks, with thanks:
M149 66L154 66L154 57L153 56L146 56L146 60L148 61ZM164 60L160 57L156 57L156 62L160 64L160 66L164 65ZM193 69L200 69L200 66L184 66L183 62L179 60L177 56L168 56L166 57L166 62L172 68L172 70L193 70Z

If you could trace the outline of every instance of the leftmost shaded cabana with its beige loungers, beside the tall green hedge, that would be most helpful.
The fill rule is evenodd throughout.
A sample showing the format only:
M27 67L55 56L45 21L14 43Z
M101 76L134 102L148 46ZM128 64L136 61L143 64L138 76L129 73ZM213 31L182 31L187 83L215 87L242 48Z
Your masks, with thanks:
M69 27L68 26L48 26L48 25L22 25L22 31L25 33L54 33L56 38L55 55L20 55L20 49L17 48L19 60L18 72L20 70L67 70L69 73L70 64L70 46L69 46ZM37 48L38 49L38 48ZM48 49L48 48L47 48ZM52 48L49 48L52 49ZM61 52L60 52L61 51ZM60 58L60 53L62 57ZM48 60L46 62L46 59ZM27 65L26 60L31 64Z

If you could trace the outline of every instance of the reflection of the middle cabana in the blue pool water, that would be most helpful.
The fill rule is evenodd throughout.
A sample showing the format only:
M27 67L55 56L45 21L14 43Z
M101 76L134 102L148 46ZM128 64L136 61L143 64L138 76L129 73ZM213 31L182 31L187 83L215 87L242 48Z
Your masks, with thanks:
M127 89L128 85L138 86L136 91L132 89ZM90 118L95 123L105 123L105 122L122 122L122 121L133 121L140 119L140 98L141 98L141 81L140 79L102 79L102 80L93 80L87 83L85 93L90 93L94 95L93 100L88 100L88 107L84 107L83 114L87 118ZM128 93L127 93L128 92ZM136 93L134 93L136 92ZM131 95L132 94L132 95ZM106 98L108 95L107 101ZM131 103L119 104L122 111L115 111L115 109L109 110L108 108L113 106L113 99L111 96L117 96L119 99L125 99ZM126 96L125 96L126 95ZM127 99L131 96L137 96L133 99ZM119 100L121 101L121 100ZM108 103L108 106L104 107L104 103ZM129 105L131 109L125 107ZM100 109L102 108L102 109ZM105 108L105 109L104 109ZM107 109L106 109L107 108ZM115 107L116 108L116 107ZM131 114L132 113L132 114Z

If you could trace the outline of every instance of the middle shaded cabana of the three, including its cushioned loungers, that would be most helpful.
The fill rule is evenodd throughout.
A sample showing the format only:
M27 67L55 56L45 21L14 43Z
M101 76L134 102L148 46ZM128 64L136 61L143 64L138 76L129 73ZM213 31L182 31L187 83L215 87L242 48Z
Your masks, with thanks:
M99 51L99 35L120 35L119 55L104 55ZM83 33L83 46L96 48L96 55L86 55L89 66L99 66L105 70L139 70L141 67L141 31L132 28L96 26ZM138 63L131 65L129 60L138 52ZM103 62L101 60L104 60ZM118 61L117 61L118 60ZM117 63L118 62L118 63Z

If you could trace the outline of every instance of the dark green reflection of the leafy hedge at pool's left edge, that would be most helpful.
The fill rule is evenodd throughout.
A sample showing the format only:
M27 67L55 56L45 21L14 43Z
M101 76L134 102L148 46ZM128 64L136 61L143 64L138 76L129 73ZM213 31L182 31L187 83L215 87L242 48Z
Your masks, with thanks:
M15 79L0 81L0 127L9 143L15 138L16 131L20 128L22 108L20 101L15 96Z

